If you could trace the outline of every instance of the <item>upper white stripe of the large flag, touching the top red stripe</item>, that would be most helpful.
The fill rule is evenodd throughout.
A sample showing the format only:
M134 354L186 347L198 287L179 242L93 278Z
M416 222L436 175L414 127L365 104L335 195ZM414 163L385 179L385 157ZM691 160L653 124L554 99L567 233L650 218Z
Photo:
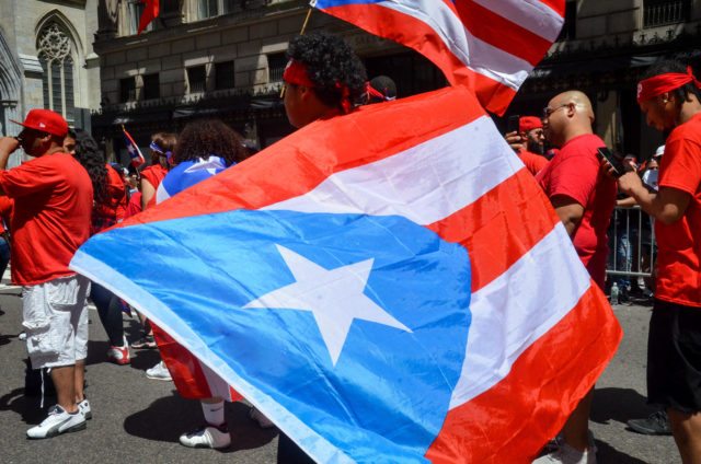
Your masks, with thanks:
M427 225L475 201L521 167L492 120L482 116L392 156L335 173L313 190L263 209L397 214Z

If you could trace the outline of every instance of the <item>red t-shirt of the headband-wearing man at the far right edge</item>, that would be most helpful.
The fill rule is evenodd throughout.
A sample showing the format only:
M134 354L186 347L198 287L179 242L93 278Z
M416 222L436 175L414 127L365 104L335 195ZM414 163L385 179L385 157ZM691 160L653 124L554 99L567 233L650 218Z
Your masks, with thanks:
M659 161L659 188L691 195L681 219L665 225L655 221L659 276L655 298L701 306L701 114L677 126Z

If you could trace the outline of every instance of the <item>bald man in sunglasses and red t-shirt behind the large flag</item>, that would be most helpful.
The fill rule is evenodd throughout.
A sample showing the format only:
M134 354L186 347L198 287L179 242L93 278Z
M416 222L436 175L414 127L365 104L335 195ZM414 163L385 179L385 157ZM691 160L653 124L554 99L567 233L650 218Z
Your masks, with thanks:
M545 137L560 151L536 176L572 239L591 279L602 289L608 255L607 229L616 206L616 183L601 170L591 102L582 92L553 97L543 109ZM596 463L588 433L591 388L562 429L556 446L535 463Z

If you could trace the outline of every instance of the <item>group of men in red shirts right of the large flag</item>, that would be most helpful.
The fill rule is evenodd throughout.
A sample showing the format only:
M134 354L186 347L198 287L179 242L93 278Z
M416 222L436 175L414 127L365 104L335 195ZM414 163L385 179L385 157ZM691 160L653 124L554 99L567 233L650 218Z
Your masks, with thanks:
M619 160L624 173L606 161L604 141L594 135L587 96L567 91L553 97L542 119L524 117L519 130L506 134L526 167L536 176L593 280L605 289L609 246L607 230L623 269L612 281L631 287L631 243L644 244L637 271L647 270L654 294L647 352L648 402L660 410L629 426L642 433L673 434L681 460L701 462L701 83L677 61L652 66L637 84L637 103L647 124L666 142L641 165L635 156ZM543 142L553 150L545 152ZM664 156L663 156L664 155ZM621 198L617 199L617 190ZM632 228L612 223L616 206L637 205L654 220ZM652 222L652 221L651 221ZM656 254L656 260L653 255ZM641 253L642 255L643 253ZM637 283L637 282L636 282ZM654 288L654 293L650 290ZM625 294L623 294L625 298ZM589 392L543 450L537 463L596 463L588 431Z

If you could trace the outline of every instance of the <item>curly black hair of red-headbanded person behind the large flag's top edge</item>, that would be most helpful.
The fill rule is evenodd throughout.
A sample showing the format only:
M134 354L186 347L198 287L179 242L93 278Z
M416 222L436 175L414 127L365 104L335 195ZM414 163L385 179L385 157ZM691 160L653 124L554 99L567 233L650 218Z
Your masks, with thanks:
M353 48L337 35L323 31L297 36L289 40L287 57L307 66L309 79L317 85L314 92L329 106L340 106L345 84L350 101L365 103L367 73Z

